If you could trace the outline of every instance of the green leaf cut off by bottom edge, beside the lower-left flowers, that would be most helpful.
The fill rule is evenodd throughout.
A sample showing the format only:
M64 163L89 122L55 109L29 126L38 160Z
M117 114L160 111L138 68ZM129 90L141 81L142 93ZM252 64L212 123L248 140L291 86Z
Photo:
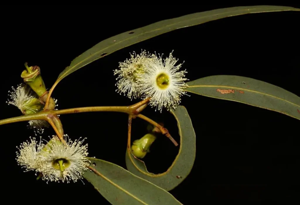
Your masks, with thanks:
M89 160L95 171L88 170L83 177L111 204L181 204L166 190L118 165L101 159Z

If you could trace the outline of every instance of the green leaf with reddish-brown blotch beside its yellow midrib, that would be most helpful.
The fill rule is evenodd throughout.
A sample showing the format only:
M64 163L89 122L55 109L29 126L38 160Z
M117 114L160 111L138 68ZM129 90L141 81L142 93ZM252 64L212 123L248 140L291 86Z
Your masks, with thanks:
M300 97L275 85L241 76L208 76L188 82L186 91L277 111L300 120Z

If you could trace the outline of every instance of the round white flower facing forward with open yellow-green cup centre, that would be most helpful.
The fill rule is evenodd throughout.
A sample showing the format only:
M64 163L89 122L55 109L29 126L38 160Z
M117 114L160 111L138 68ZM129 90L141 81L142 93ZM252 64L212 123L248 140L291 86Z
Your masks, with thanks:
M173 51L172 51L173 52ZM152 55L152 60L145 64L145 73L138 73L137 85L140 86L142 98L151 97L149 105L155 106L156 109L162 110L166 107L168 110L176 108L180 103L180 97L186 92L187 88L184 83L185 70L178 71L182 64L175 66L176 58L173 58L172 53L164 61L159 55ZM155 109L155 110L156 110Z

